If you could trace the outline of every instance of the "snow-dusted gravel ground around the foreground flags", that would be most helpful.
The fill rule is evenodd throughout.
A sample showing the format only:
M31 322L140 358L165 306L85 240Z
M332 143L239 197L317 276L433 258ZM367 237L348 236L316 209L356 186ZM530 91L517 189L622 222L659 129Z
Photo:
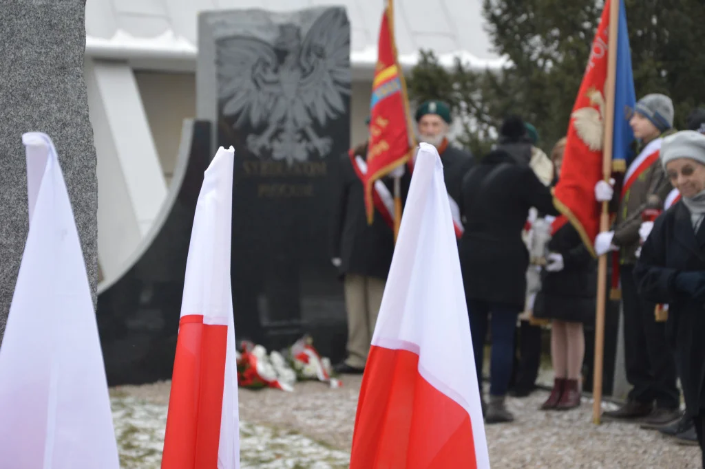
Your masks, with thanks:
M545 375L542 381L546 381ZM160 382L113 390L118 439L121 433L127 435L122 437L121 451L129 456L123 460L135 461L136 453L144 453L141 458L158 459L168 388L168 382ZM243 469L346 467L359 389L360 377L343 377L339 389L319 382L297 383L293 393L240 389L240 418L246 422ZM509 399L515 423L486 427L493 468L699 468L697 446L674 444L635 424L593 425L589 399L575 411L538 411L546 396L539 391L526 399ZM135 412L158 415L151 421L145 419L142 428L139 423L125 424L129 420L125 414ZM140 433L152 436L140 437ZM277 461L283 465L271 465ZM125 465L129 467L151 466Z

